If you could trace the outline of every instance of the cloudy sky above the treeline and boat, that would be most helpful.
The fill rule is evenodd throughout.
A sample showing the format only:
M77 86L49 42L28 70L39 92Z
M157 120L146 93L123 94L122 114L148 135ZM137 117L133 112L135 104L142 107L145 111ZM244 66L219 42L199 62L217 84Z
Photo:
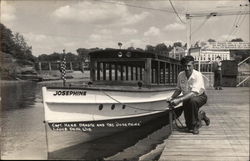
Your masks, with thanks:
M248 0L1 0L1 23L24 36L32 54L78 48L145 49L214 39L249 42ZM248 6L246 6L248 5ZM212 12L221 16L208 16ZM186 14L199 15L186 19ZM190 27L191 26L191 27ZM190 31L190 32L188 32Z

